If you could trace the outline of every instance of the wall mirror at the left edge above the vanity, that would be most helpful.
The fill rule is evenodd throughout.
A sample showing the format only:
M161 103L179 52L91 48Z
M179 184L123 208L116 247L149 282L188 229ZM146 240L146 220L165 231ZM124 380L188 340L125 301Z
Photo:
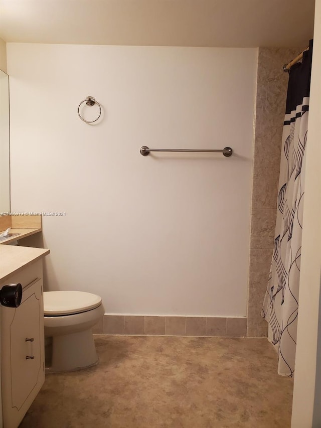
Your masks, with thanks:
M10 212L9 76L0 70L0 215Z

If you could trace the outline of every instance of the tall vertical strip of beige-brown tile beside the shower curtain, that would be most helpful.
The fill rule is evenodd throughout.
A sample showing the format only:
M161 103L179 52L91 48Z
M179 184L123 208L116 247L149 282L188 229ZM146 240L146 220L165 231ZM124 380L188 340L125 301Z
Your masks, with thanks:
M259 48L255 111L247 336L266 337L261 308L269 274L276 218L280 151L288 75L282 65L300 48Z

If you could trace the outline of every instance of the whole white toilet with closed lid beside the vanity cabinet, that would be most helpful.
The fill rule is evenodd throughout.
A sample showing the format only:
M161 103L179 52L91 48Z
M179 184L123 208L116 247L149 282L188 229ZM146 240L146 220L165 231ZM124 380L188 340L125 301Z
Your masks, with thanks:
M44 292L46 372L57 373L98 363L92 327L104 315L101 298L76 291ZM50 346L50 345L49 345ZM48 360L50 367L47 367Z

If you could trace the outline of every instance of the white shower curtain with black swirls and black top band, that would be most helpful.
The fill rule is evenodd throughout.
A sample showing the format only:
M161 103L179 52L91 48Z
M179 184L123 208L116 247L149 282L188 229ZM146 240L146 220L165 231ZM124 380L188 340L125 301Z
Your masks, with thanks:
M293 376L295 363L311 62L312 41L302 62L289 71L274 249L262 308L269 340L278 346L278 373L284 376Z

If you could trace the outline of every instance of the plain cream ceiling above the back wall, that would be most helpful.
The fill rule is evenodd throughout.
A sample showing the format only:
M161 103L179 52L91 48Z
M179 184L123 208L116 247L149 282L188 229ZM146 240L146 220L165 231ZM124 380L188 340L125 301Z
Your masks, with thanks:
M0 0L6 42L301 47L314 0Z

